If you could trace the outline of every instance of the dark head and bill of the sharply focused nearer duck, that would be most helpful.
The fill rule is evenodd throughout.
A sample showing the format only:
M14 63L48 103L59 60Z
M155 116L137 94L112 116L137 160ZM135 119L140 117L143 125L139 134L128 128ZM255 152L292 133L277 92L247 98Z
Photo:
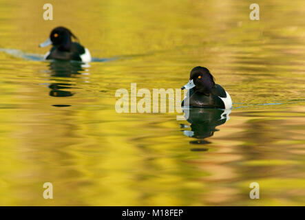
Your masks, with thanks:
M189 83L181 89L194 89L209 94L215 85L215 79L206 67L195 67L191 70Z

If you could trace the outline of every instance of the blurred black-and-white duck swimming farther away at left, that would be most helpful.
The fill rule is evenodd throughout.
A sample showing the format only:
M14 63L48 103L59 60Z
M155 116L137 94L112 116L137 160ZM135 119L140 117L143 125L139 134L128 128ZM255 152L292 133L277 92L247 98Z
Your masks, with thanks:
M73 42L71 37L77 39L67 28L54 28L50 34L50 39L39 45L40 47L53 45L50 52L45 54L45 60L91 62L92 58L89 50L80 43Z

